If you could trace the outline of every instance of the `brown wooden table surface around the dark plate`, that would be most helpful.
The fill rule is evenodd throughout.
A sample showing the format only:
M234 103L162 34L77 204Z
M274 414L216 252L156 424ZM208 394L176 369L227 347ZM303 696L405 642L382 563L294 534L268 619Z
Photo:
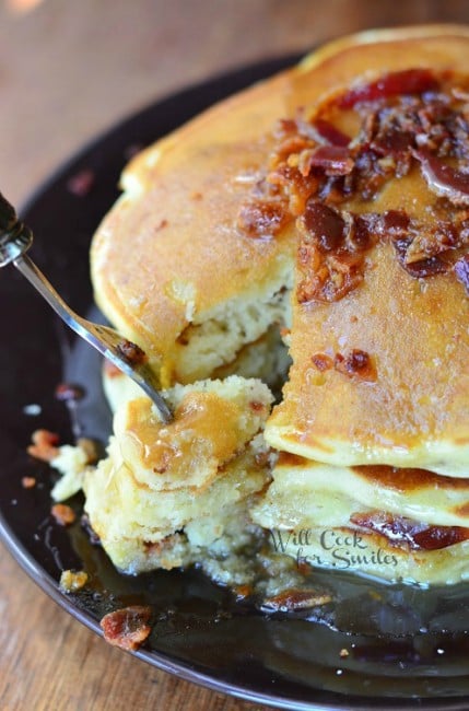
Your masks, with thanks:
M465 0L2 0L0 189L21 205L83 142L215 72L360 28L466 20ZM0 548L2 711L248 708L108 646Z

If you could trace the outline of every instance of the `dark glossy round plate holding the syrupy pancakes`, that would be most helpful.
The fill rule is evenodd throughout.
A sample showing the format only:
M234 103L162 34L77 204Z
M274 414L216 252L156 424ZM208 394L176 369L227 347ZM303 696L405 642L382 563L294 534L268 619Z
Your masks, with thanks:
M294 59L236 71L150 106L86 148L36 194L22 214L35 233L32 256L72 307L92 308L90 238L118 195L129 153ZM54 397L63 380L86 391L78 412L82 433L105 441L109 412L99 361L13 267L1 273L0 304L0 533L56 602L97 633L110 609L150 604L153 632L136 656L244 699L297 709L469 708L466 586L420 591L319 573L323 582L332 581L338 602L331 609L308 620L266 616L234 605L227 591L198 571L119 575L79 523L68 529L55 524L49 515L55 475L28 457L26 446L39 427L73 441L73 418ZM24 489L24 476L36 477L37 486ZM73 505L80 510L79 498ZM60 592L60 571L67 568L89 572L90 584L80 594Z

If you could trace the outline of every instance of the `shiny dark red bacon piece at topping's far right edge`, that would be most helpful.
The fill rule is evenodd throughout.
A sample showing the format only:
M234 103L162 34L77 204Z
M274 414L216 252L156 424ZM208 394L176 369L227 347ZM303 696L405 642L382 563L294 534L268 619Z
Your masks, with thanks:
M431 190L454 205L469 205L469 173L457 171L423 148L413 151L413 155L420 161Z

